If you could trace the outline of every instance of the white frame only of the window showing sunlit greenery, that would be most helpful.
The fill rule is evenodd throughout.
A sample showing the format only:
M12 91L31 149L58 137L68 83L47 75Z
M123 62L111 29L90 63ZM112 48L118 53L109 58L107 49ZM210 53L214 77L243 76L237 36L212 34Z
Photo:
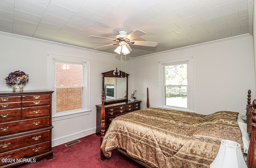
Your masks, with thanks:
M182 108L182 107L174 107L174 106L168 106L165 105L165 70L164 67L166 65L176 65L180 63L187 63L187 80L188 80L188 85L187 85L187 108ZM160 61L158 63L159 67L159 86L160 86L160 108L164 109L173 109L173 110L180 110L180 111L187 111L187 112L192 112L194 113L194 63L193 63L193 57L186 57L186 58L181 58L181 59L172 59L168 61Z

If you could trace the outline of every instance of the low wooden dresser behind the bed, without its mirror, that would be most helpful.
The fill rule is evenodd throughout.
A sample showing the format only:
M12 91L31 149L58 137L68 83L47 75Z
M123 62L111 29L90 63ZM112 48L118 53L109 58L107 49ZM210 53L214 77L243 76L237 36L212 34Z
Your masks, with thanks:
M140 100L136 101L126 101L121 103L114 103L105 105L105 113L106 113L106 130L111 123L111 121L126 113L130 113L132 111L136 111L140 109ZM101 134L101 105L96 105L96 134Z

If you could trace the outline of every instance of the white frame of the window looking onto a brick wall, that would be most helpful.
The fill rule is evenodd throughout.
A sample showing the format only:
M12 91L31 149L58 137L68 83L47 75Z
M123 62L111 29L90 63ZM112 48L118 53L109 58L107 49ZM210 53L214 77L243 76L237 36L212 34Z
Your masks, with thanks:
M79 63L83 65L83 97L82 109L72 110L72 111L64 111L64 112L56 112L56 87L55 86L55 61L64 62L64 63ZM63 55L52 55L48 54L48 85L47 88L49 90L54 91L52 94L52 121L58 121L61 119L67 119L70 117L78 117L81 115L89 115L91 112L90 108L90 59L82 58L82 57L69 57ZM70 87L70 86L69 86ZM73 86L71 86L73 87ZM76 86L74 86L76 87ZM66 88L66 86L63 86Z

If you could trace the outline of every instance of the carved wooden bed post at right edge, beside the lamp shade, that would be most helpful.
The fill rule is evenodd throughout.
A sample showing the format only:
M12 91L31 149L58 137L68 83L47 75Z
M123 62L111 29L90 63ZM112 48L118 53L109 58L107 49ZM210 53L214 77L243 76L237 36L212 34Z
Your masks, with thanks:
M249 168L256 168L256 100L252 102L252 108L252 134L247 154L247 164Z

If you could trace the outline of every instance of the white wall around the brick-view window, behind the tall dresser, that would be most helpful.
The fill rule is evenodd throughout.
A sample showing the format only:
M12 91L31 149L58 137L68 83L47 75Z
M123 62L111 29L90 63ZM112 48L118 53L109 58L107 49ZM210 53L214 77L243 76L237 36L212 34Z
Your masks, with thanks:
M0 32L0 91L12 91L5 84L8 73L21 70L29 74L26 90L45 90L47 86L47 54L86 57L91 67L91 113L71 119L53 121L53 146L80 138L96 130L96 107L101 104L102 72L118 68L120 56L62 45L44 40L26 38Z

